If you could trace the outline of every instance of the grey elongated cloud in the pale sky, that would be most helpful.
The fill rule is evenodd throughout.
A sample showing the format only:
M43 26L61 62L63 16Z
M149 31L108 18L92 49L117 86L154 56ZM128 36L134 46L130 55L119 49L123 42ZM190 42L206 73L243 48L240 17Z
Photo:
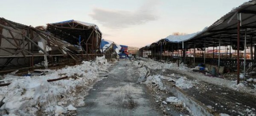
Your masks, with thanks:
M140 25L148 21L157 20L155 11L158 4L159 0L146 0L145 3L135 11L93 8L93 12L89 14L89 16L108 28L126 28L132 25Z

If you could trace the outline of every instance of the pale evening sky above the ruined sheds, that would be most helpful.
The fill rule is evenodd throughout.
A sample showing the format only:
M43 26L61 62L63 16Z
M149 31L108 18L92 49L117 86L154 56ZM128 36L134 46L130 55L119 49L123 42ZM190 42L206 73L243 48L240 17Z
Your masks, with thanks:
M0 17L39 26L65 20L98 25L102 38L143 47L173 32L202 31L249 0L2 0Z

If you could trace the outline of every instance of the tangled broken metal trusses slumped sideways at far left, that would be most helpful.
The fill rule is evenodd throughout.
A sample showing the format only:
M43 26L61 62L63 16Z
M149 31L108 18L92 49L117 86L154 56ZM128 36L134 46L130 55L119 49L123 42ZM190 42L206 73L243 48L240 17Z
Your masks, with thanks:
M5 34L8 32L11 37L6 37L6 35L3 34L3 30L6 30ZM45 40L47 42L46 45L56 46L58 49L57 51L61 54L52 54L51 51L46 51L44 48L38 46L36 43L38 40L35 40L38 37ZM10 48L7 45L1 45L3 44L2 39L6 40L6 44L12 45L13 47ZM84 56L91 56L90 59L94 59L97 55L102 55L77 54L74 51L65 48L64 45L65 44L61 42L59 38L54 37L47 32L0 18L0 53L1 50L2 52L6 51L5 54L0 55L0 59L7 59L7 61L4 62L5 64L1 64L1 73L19 69L33 69L36 67L34 63L36 61L35 58L44 57L44 55L51 59L49 60L50 64L54 64L52 57L66 57L68 60L65 60L64 62L77 62L88 60L88 58L84 59ZM39 53L39 50L42 51L42 53ZM72 60L70 60L70 58ZM19 59L24 60L24 63L29 65L23 65L24 63L19 62ZM17 60L17 62L14 63L13 60Z

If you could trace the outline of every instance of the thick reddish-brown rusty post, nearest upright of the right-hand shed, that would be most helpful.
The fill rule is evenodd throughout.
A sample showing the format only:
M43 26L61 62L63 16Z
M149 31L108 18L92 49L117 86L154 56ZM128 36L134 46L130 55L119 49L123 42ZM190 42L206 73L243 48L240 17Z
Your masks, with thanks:
M240 20L237 22L237 84L239 84L240 81Z

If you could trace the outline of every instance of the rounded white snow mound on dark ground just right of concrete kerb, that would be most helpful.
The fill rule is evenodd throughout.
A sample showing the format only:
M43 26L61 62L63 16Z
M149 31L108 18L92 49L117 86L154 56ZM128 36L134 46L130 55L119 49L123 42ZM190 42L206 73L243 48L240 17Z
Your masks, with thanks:
M183 76L176 80L175 86L181 89L189 89L192 88L194 85L191 81L188 81L185 76Z

